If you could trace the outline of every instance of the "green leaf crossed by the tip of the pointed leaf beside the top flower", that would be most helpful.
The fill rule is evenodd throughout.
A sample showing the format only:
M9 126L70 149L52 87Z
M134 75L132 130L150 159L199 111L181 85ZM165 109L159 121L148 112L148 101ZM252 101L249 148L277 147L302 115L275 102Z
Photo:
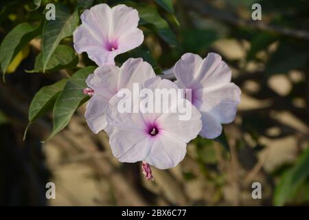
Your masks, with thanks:
M58 45L54 54L52 54L49 62L47 63L46 72L53 72L59 69L66 69L69 67L76 67L78 64L78 56L74 50L67 45ZM28 73L43 72L42 53L36 56L36 63L34 69L26 71Z

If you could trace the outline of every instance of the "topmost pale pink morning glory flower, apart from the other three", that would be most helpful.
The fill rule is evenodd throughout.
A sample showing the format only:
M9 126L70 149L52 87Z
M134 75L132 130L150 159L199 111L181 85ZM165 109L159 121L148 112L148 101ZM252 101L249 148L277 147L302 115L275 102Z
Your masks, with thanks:
M114 58L141 45L144 34L137 28L139 14L126 5L110 8L101 3L85 10L82 25L73 32L78 54L87 52L97 65L115 65Z

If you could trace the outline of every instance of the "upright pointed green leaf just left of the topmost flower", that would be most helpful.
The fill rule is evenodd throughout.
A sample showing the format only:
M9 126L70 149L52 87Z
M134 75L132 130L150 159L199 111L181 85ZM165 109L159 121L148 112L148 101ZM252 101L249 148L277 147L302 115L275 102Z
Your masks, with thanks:
M56 20L45 20L43 27L43 72L45 72L47 63L60 41L67 36L71 36L78 26L78 21L79 17L77 10L73 12L73 14L70 14L67 8L56 4Z

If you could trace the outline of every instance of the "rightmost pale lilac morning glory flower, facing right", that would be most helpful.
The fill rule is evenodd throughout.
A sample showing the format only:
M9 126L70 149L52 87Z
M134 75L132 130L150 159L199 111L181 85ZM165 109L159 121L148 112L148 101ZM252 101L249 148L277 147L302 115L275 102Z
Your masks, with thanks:
M240 88L231 83L231 69L221 56L209 53L203 59L184 54L174 66L176 84L191 89L191 102L201 112L203 128L200 135L209 139L222 133L222 125L236 118Z

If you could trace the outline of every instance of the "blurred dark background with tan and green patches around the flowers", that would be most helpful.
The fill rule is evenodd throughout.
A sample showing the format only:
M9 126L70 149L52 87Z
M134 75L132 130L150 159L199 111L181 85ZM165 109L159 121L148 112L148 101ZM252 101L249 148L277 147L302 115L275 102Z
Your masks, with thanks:
M76 1L1 1L0 41L17 24L35 23L48 2L69 8ZM85 1L89 5L119 1ZM309 204L309 2L306 0L175 0L173 13L158 1L159 12L179 45L163 41L143 26L146 48L156 72L168 69L185 52L216 52L232 69L242 89L235 122L224 126L227 143L201 137L190 142L181 164L170 170L152 167L146 181L141 164L121 164L111 154L106 133L91 133L85 106L49 142L52 113L32 124L23 141L27 111L34 94L65 78L70 69L30 74L41 50L30 41L0 80L0 205L4 206L282 206ZM262 21L253 21L253 3ZM66 41L64 39L63 41ZM69 42L71 43L71 42ZM133 52L117 56L122 63ZM82 65L91 61L80 56ZM56 199L46 199L47 182ZM253 182L262 199L253 199Z

